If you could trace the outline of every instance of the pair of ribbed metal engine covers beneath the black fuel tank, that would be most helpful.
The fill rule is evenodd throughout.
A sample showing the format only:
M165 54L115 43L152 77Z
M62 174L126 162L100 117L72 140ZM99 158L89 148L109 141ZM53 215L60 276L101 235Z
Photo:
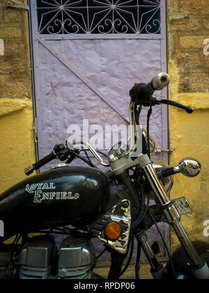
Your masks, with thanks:
M20 279L91 279L96 263L91 240L68 236L59 253L50 236L34 236L22 248Z

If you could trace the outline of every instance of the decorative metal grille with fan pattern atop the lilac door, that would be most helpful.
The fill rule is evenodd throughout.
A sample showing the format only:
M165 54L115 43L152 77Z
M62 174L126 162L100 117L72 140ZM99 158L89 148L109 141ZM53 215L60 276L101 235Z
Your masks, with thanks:
M160 0L37 0L40 34L160 33Z

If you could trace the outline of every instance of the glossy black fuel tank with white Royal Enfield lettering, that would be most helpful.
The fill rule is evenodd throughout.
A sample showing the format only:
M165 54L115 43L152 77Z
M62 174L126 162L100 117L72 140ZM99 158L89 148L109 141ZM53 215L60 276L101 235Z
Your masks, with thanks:
M100 212L109 196L109 181L90 167L59 167L29 177L0 195L5 234L73 225Z

